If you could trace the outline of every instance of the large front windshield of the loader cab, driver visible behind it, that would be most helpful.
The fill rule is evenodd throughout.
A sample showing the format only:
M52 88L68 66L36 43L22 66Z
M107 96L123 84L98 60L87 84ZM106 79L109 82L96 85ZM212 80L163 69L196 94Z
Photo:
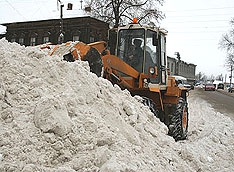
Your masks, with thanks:
M123 29L119 31L117 56L138 72L143 71L144 38L144 29Z

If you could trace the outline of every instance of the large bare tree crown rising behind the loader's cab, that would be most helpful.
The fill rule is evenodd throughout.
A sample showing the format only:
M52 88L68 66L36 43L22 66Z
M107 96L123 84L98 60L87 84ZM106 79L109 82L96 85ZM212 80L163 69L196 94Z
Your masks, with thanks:
M159 21L164 18L159 6L164 0L89 0L86 6L91 15L110 23L113 27L129 23L134 17L142 22Z

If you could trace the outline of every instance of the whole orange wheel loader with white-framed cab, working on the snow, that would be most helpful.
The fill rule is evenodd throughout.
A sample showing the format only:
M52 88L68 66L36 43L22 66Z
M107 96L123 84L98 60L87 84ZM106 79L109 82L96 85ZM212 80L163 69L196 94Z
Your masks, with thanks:
M188 89L179 87L167 69L164 29L134 22L111 29L108 46L104 41L85 44L67 42L56 45L50 55L62 55L66 61L89 62L91 72L102 76L142 102L168 127L176 141L187 138Z

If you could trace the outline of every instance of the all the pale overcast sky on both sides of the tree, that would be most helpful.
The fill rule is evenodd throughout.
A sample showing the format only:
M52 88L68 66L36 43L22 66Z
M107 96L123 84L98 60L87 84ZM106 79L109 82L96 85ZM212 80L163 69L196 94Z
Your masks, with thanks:
M81 9L80 0L61 1ZM174 53L179 52L182 60L197 65L196 73L222 74L224 78L230 74L224 67L226 52L218 44L231 28L234 0L165 0L160 9L166 15L160 27L168 30L167 55L175 57ZM0 23L59 18L59 15L57 0L0 0ZM3 30L0 27L0 32Z

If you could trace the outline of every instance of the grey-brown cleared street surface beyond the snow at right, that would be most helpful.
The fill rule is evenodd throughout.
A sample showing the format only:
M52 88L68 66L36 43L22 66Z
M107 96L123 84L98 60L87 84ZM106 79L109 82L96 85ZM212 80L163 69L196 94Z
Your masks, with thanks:
M223 90L204 91L204 89L195 88L190 91L190 94L197 94L208 101L216 111L234 120L234 93L227 93Z

